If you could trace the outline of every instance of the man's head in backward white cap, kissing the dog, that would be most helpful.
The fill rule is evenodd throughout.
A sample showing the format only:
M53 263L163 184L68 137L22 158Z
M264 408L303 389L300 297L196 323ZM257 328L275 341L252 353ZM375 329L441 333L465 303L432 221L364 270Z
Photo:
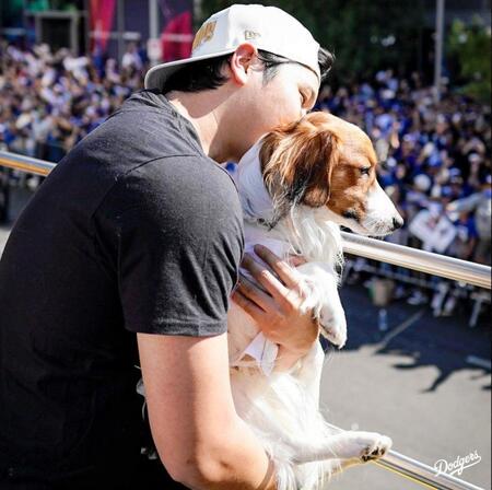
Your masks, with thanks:
M195 107L206 104L196 109L196 117L210 110L218 122L221 144L215 141L213 151L211 141L209 154L238 160L261 135L297 120L313 107L332 61L282 10L232 5L203 23L191 58L154 67L145 88L198 95Z

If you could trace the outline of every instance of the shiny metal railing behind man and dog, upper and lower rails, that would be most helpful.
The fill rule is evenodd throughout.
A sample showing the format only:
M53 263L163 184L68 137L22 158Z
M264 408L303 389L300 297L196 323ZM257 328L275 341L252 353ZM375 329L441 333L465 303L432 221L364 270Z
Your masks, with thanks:
M0 151L0 166L46 176L56 164ZM353 235L351 233L342 233L342 235L343 250L348 254L491 289L491 268L488 266L432 254L403 245L396 245L380 240ZM332 427L333 429L341 430L335 425ZM437 475L435 468L396 451L390 451L385 457L373 463L431 489L483 490L452 475Z

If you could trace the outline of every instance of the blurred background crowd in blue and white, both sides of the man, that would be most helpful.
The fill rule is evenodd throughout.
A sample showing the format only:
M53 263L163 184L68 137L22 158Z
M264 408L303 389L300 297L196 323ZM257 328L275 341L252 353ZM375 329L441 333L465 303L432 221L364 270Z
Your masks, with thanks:
M142 89L148 68L134 45L120 67L112 58L7 42L0 60L0 149L52 162ZM490 107L446 86L437 102L419 74L401 79L384 70L350 86L325 85L316 109L354 122L373 140L379 180L406 219L389 240L490 264ZM431 298L419 288L408 301Z

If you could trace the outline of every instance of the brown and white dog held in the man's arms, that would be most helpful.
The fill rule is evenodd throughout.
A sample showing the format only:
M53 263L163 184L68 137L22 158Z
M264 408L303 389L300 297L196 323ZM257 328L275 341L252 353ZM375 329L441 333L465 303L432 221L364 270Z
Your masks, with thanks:
M339 226L383 236L402 219L376 180L376 154L356 126L312 113L265 135L243 156L235 176L244 211L246 250L268 246L296 254L321 334L341 348L345 316L337 291L342 262ZM383 456L389 438L333 432L319 412L324 352L319 345L290 371L273 371L277 346L233 304L229 314L231 380L238 415L276 464L279 490L321 490L347 466Z

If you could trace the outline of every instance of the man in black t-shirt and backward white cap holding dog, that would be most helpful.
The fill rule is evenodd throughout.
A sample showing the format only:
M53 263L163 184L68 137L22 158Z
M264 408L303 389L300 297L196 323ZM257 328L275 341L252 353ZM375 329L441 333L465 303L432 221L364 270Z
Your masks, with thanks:
M46 179L0 262L1 488L276 487L231 395L226 311L242 212L214 161L238 161L300 118L330 63L281 10L233 5L203 24L190 59L153 68L151 90ZM317 325L300 313L289 266L258 254L280 280L250 257L244 265L271 303L259 307L250 283L234 299L286 369ZM140 456L140 375L172 479Z

